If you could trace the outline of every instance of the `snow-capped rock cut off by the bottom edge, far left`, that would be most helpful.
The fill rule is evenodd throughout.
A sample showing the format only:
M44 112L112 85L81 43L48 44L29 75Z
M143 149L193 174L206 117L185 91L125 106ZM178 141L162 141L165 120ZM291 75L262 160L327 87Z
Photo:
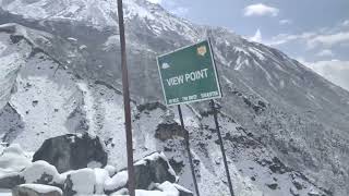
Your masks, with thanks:
M12 189L12 196L62 196L60 188L43 184L22 184Z

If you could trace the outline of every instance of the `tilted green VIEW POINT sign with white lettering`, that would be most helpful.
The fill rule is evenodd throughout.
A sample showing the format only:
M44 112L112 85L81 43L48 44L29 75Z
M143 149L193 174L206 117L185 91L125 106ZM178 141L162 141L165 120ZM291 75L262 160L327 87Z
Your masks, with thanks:
M209 40L160 56L157 64L168 106L221 97Z

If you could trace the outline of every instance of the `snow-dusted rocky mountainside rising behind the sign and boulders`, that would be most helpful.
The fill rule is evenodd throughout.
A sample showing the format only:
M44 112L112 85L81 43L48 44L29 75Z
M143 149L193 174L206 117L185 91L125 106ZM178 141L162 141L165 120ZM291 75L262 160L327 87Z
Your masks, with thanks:
M89 132L105 139L112 164L125 166L116 8L111 0L0 0L2 142L36 150L48 137ZM190 187L181 135L164 130L176 110L151 103L163 102L155 57L209 37L238 195L349 194L348 91L231 30L145 0L124 9L137 158L166 149ZM208 103L185 106L184 114L203 195L227 195Z

